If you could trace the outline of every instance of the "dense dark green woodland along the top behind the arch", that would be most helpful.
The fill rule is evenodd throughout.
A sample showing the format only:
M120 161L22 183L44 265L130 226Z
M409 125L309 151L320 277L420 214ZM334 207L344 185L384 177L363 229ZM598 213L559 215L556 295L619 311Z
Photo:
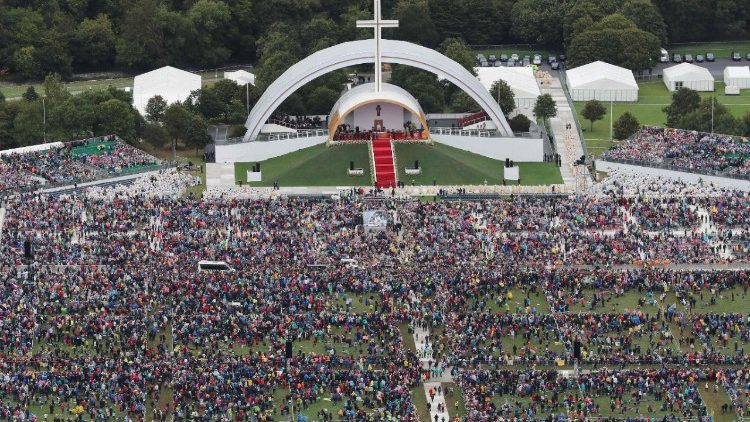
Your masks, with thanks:
M6 0L0 8L0 76L166 64L207 68L261 64L262 83L316 50L370 36L355 21L369 0ZM385 0L401 21L385 36L437 48L529 43L595 54L633 69L665 42L743 39L746 0ZM623 46L628 48L623 49ZM628 52L630 50L637 50Z

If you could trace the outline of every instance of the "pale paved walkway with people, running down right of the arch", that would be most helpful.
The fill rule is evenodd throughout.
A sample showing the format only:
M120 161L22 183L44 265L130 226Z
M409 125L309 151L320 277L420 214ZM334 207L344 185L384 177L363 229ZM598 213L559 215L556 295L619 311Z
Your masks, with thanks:
M565 97L560 79L550 78L549 83L542 84L539 87L542 94L550 94L557 104L557 116L550 119L550 126L555 138L555 148L562 161L560 172L563 181L565 185L575 187L576 178L573 163L584 154L584 151L581 139L578 136L578 130L575 127L573 110ZM572 129L566 129L568 124L572 125Z

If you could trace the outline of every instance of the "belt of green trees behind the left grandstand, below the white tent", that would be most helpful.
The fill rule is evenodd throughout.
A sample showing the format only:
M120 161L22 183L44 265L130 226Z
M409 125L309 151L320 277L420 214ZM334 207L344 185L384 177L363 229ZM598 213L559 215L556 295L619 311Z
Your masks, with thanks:
M42 89L29 87L19 101L6 101L0 94L0 150L112 133L134 144L144 140L157 149L169 142L201 149L211 141L209 123L243 123L247 100L252 106L259 97L257 90L248 93L225 79L193 91L183 102L167 104L154 97L141 116L132 107L132 94L120 89L72 95L58 74L47 76Z

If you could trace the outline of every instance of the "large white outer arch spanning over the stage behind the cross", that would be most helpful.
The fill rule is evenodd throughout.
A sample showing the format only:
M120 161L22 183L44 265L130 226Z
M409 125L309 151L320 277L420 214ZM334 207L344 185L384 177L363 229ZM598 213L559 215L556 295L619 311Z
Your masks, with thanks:
M490 116L503 136L513 136L503 111L474 75L435 50L405 41L382 40L383 62L416 67L439 74L466 92ZM255 139L271 114L299 88L313 79L363 63L375 62L372 40L350 41L320 50L290 67L260 97L247 117L245 141Z

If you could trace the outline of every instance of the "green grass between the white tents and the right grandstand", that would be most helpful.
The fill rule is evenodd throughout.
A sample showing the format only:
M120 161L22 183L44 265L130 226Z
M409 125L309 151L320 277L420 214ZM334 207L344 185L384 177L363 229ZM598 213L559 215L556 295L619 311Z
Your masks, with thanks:
M612 104L612 117L617 120L626 111L631 112L641 123L646 126L664 126L667 116L662 109L672 102L672 93L662 81L647 81L638 84L640 92L638 101L635 103L614 103ZM708 98L716 97L716 101L726 105L735 117L743 117L750 112L750 90L742 90L741 95L724 95L724 83L715 83L715 92L700 92L700 96ZM584 102L576 102L575 107L578 111L578 118L581 121L583 136L586 138L586 144L592 154L599 156L613 145L610 142L610 104L604 104L607 114L604 119L595 122L593 129L591 123L583 118Z

